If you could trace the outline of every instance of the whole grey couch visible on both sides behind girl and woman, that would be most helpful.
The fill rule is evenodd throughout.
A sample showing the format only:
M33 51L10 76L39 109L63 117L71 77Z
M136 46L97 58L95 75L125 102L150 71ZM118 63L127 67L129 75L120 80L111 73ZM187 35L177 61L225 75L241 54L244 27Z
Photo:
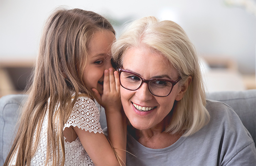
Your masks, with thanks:
M15 125L26 95L7 95L0 98L0 166L3 165L15 135ZM231 106L256 142L256 90L215 92L207 94L208 99ZM104 110L100 124L106 127Z

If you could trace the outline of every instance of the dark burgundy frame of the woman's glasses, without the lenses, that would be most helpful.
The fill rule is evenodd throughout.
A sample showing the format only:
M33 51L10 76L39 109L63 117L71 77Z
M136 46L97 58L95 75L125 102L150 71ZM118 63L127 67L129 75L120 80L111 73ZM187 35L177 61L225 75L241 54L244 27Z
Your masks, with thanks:
M166 97L166 96L168 96L168 95L171 93L171 90L172 90L172 88L174 87L174 85L176 85L176 84L181 80L181 77L179 77L176 81L166 80L166 79L159 79L159 78L152 78L152 79L149 79L149 80L145 80L145 79L143 79L141 76L139 76L138 74L133 73L132 71L128 71L128 70L124 70L124 69L119 68L119 69L118 69L118 72L119 72L119 83L120 83L120 85L121 85L124 89L131 90L131 89L125 88L125 87L122 85L121 79L120 79L120 78L121 78L121 73L122 73L122 72L127 72L127 73L130 73L130 74L134 75L134 76L139 77L139 78L142 80L141 84L139 85L139 87L138 87L137 89L139 89L139 88L142 86L143 83L147 83L149 92L150 92L152 95L157 96L157 97ZM165 95L165 96L155 95L154 93L152 93L152 91L151 91L150 88L149 88L149 82L150 82L150 81L167 81L167 82L171 83L171 85L172 85L172 86L171 86L171 90L170 90L170 92L169 92L167 95ZM135 90L137 90L137 89L135 89ZM135 91L135 90L132 90L132 91Z

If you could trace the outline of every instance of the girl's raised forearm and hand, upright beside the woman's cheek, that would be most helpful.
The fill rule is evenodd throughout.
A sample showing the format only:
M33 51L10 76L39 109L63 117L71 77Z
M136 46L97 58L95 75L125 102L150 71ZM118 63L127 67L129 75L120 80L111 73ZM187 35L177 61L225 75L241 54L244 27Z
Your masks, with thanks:
M107 77L108 75L109 77ZM109 71L105 71L104 76L106 76L106 83L109 83L109 85L105 84L104 78L104 84L106 85L104 90L105 88L107 89L103 92L103 97L106 97L107 100L102 98L102 106L106 112L107 135L116 152L116 156L121 162L125 163L127 125L120 97L119 74L117 71L113 72L113 69L109 68Z

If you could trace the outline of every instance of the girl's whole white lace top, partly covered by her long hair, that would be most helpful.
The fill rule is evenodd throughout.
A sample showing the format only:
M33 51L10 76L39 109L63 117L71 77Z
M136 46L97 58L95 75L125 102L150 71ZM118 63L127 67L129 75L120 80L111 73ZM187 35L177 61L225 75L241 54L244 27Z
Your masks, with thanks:
M40 132L40 139L37 146L37 151L35 156L32 157L30 165L31 166L42 166L45 165L46 161L46 151L47 151L47 123L48 118L45 115L42 129ZM63 130L66 127L79 127L85 129L85 131L94 132L94 133L103 133L102 128L99 124L99 109L96 107L94 101L88 97L79 95L75 106L70 114L69 119L64 125ZM66 138L64 137L64 140ZM80 139L77 139L73 142L65 142L65 166L94 166L89 155L86 153ZM62 155L62 153L60 152ZM50 155L51 156L51 155ZM60 161L62 160L62 156ZM15 165L16 155L12 160L11 165ZM52 165L52 159L48 161L49 166Z

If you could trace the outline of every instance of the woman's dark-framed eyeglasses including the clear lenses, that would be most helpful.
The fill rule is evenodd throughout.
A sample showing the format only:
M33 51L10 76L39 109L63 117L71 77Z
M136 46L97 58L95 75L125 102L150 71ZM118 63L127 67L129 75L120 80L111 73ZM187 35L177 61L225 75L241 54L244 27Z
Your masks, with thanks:
M171 93L172 88L181 80L179 77L176 81L166 79L150 79L145 80L141 76L132 71L118 69L120 85L127 90L137 90L142 83L147 83L149 92L158 97L166 97Z

